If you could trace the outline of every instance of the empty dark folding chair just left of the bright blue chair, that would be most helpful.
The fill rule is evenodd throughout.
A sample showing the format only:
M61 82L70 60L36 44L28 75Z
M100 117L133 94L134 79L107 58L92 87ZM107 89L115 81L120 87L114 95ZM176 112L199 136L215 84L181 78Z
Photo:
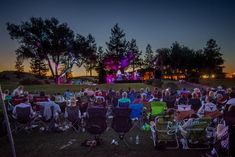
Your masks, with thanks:
M119 135L119 142L123 142L128 146L125 138L125 134L132 128L131 121L131 109L130 108L114 108L113 120L111 127Z

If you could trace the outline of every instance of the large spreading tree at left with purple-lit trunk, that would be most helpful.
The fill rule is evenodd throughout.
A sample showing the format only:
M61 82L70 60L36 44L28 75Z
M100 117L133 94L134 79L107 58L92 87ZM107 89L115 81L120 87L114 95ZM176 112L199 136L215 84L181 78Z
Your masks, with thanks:
M90 54L95 53L95 40L91 35L74 35L66 23L56 18L30 18L20 25L7 23L7 30L12 39L19 42L17 56L46 60L55 81L63 76L74 64L81 66ZM60 65L64 70L59 73Z

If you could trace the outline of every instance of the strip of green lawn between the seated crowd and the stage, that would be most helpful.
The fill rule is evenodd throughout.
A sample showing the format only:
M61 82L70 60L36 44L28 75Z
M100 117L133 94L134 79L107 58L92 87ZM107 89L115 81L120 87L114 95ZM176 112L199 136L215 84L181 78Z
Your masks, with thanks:
M164 80L163 87L165 88L168 83L175 83L179 88L186 87L186 88L193 88L190 85L187 84L179 84L178 81L172 81L172 80ZM235 86L235 80L234 79L200 79L200 83L203 85L211 86L211 87L217 87L219 85L225 86L225 87L233 87ZM16 82L0 82L0 85L2 86L2 89L9 89L10 91L14 90L18 84ZM35 91L45 91L47 94L54 94L57 92L63 93L67 89L70 91L79 91L82 88L92 88L95 89L96 87L99 87L101 89L128 89L134 88L136 90L139 90L140 88L150 88L152 89L153 86L147 85L145 83L119 83L119 84L97 84L97 85L55 85L55 84L45 84L45 85L25 85L25 89L29 92L35 92Z

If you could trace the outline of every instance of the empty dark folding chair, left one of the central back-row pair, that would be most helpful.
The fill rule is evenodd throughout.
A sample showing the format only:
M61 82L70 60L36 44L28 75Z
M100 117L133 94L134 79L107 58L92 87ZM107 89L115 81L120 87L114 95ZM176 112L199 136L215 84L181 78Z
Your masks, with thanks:
M95 140L99 139L99 136L106 130L106 113L105 108L88 108L88 119L86 121L86 130L90 134L95 136Z

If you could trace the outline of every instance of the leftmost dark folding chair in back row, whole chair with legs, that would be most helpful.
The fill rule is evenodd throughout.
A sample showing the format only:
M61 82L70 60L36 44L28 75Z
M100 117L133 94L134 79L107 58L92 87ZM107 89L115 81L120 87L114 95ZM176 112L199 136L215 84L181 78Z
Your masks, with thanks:
M34 118L31 117L31 108L30 107L17 107L16 116L13 116L15 120L15 128L13 131L16 133L23 129L32 129L31 125Z

